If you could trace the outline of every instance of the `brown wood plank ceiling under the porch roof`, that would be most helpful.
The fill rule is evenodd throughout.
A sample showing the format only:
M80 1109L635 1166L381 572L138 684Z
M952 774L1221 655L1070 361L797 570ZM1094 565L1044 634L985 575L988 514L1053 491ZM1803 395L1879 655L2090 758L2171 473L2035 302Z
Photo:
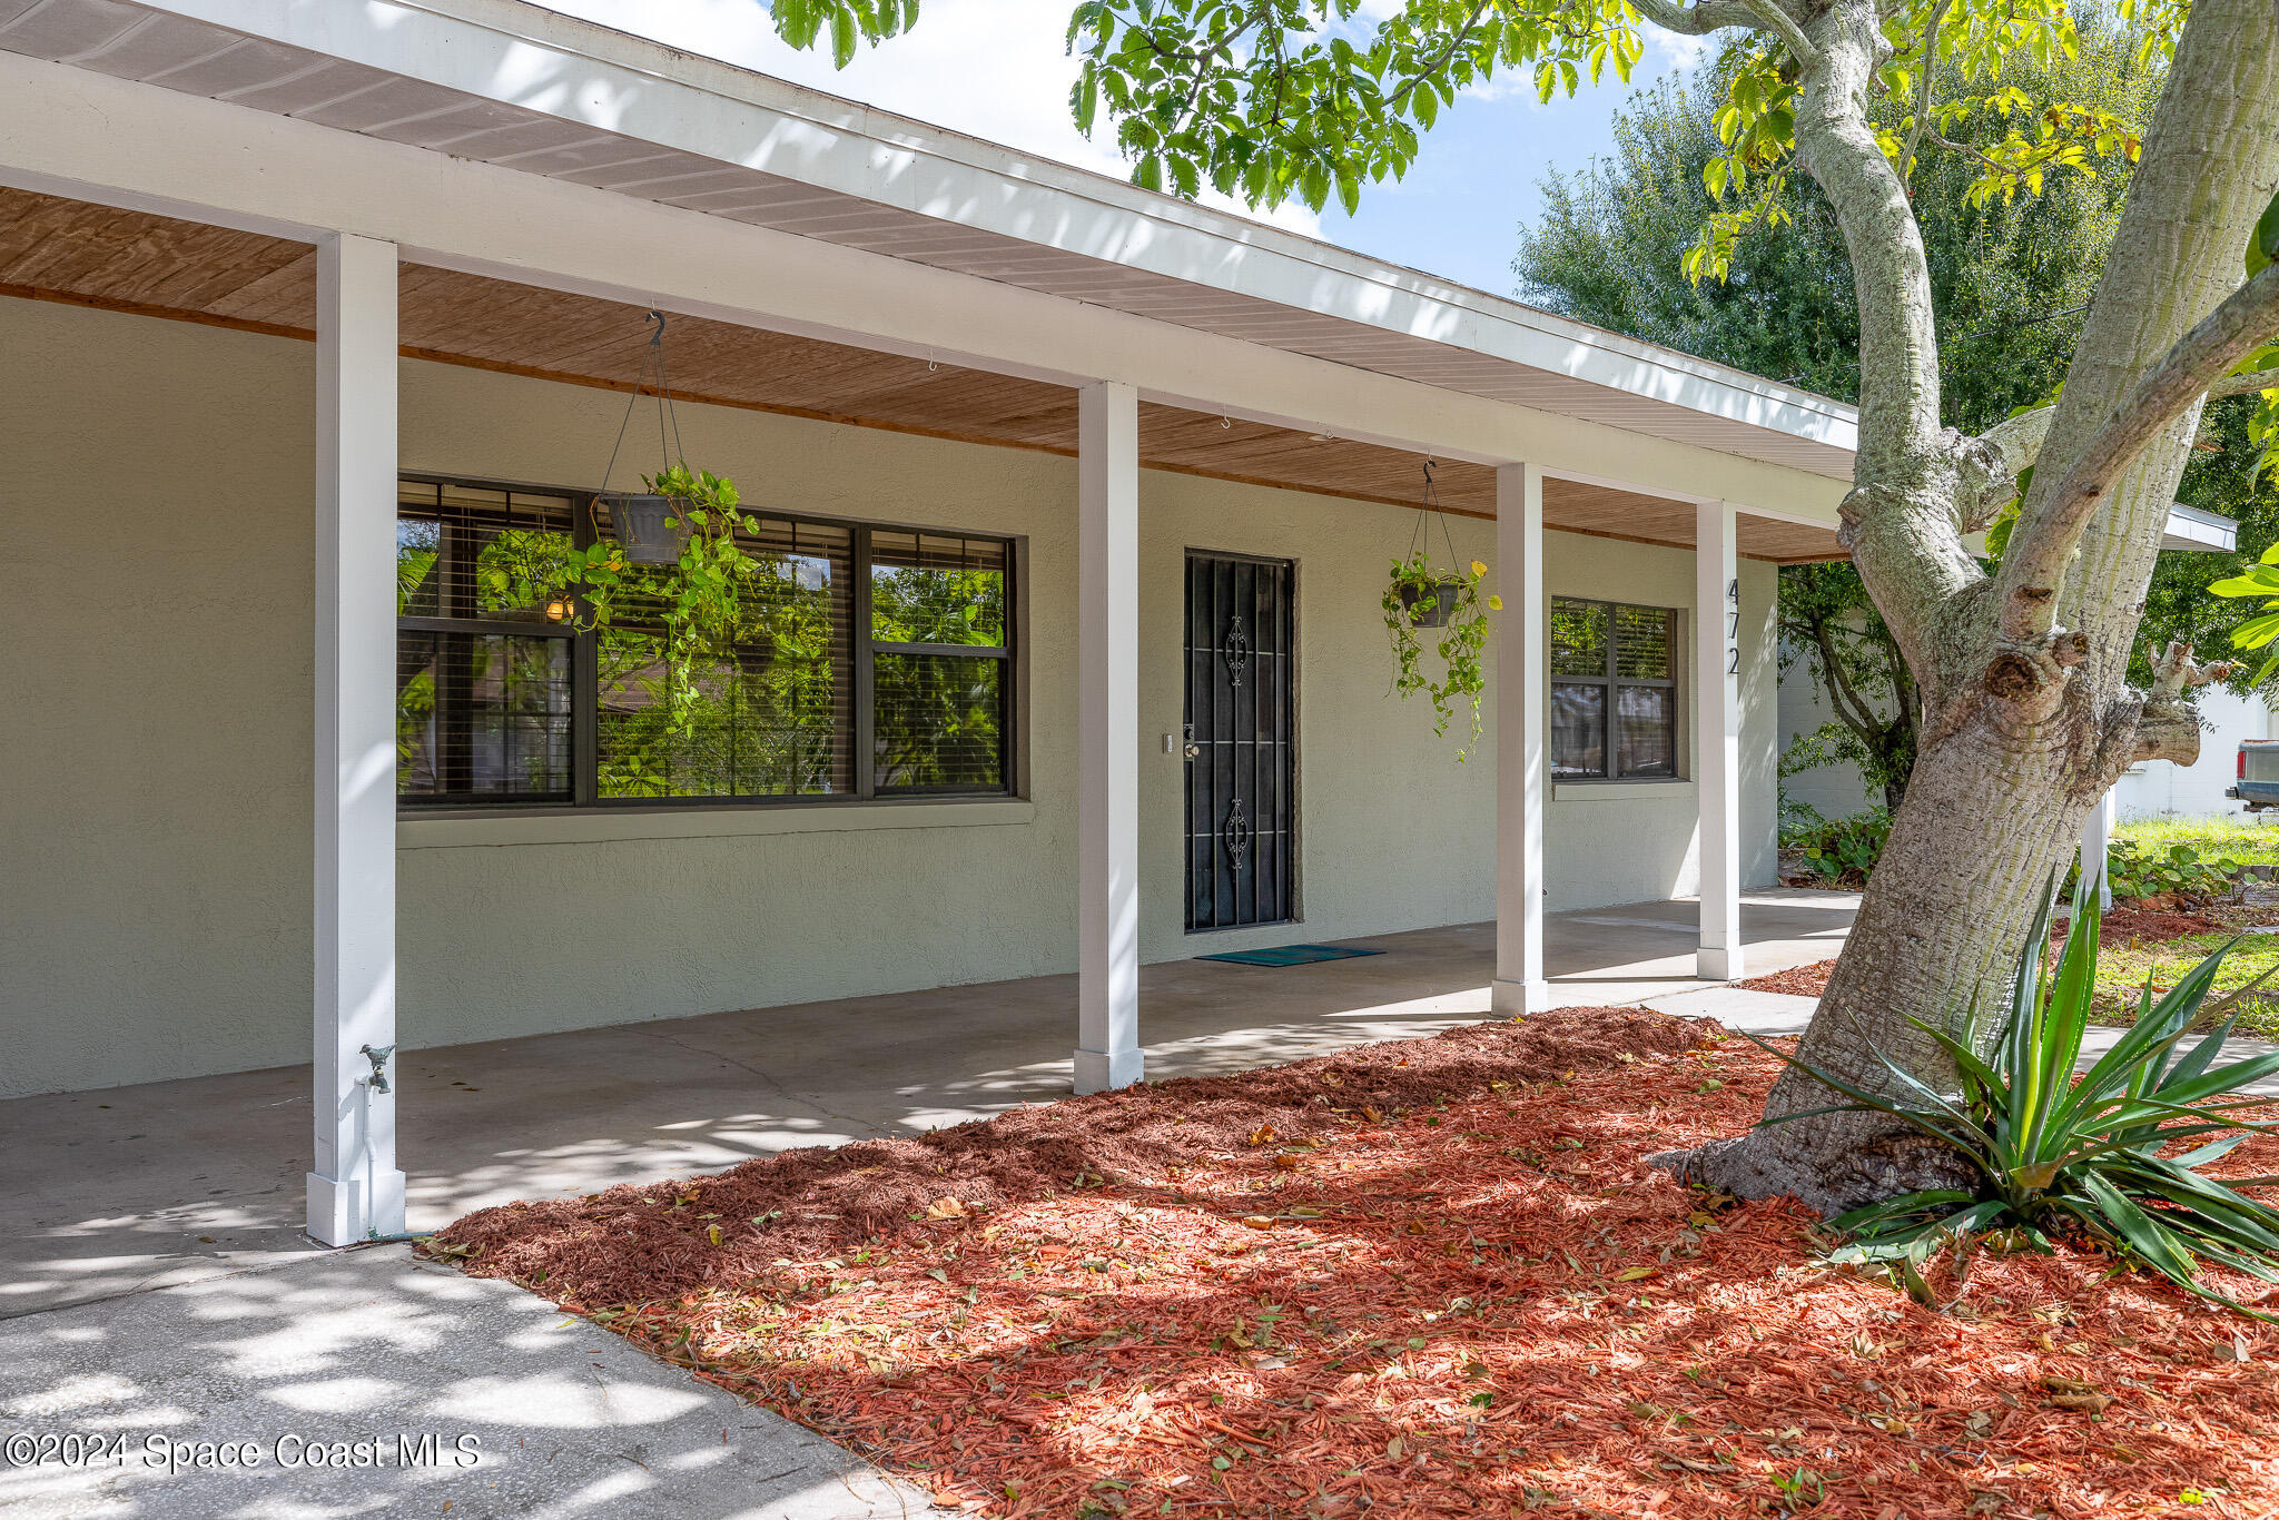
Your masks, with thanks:
M194 221L121 212L0 187L0 294L310 337L315 248ZM403 267L401 335L412 358L579 385L629 387L640 308L454 269ZM998 447L1076 453L1076 392L1014 376L930 367L896 353L672 319L672 387L695 401ZM1313 438L1249 419L1144 406L1142 463L1224 481L1415 506L1422 456ZM1443 460L1440 506L1495 515L1495 472ZM1550 479L1545 526L1632 542L1693 542L1693 506ZM1807 524L1741 517L1741 554L1780 563L1841 558Z

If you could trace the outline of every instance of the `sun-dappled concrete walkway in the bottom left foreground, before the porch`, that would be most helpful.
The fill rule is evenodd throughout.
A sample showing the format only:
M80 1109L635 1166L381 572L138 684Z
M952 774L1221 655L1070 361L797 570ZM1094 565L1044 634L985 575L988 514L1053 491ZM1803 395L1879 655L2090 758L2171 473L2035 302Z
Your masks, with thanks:
M25 1436L121 1445L98 1461L66 1461L80 1449L41 1461L9 1447ZM219 1447L232 1449L228 1465ZM417 1262L408 1247L0 1324L9 1520L444 1509L454 1520L948 1513L791 1420L520 1288Z

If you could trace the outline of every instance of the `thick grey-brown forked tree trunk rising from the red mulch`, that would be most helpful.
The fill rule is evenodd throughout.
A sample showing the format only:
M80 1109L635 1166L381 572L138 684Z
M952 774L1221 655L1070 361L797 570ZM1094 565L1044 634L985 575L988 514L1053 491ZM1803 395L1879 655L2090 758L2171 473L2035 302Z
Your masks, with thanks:
M1980 574L1960 540L1983 456L1937 428L1921 242L1862 116L1864 80L1880 64L1873 25L1857 0L1803 21L1819 57L1805 62L1796 123L1798 155L1837 207L1860 276L1862 424L1846 536L1917 677L1921 747L1800 1055L1892 1092L1880 1053L1953 1092L1953 1064L1910 1016L1951 1035L1969 1028L1987 1048L2026 930L2090 804L2133 759L2197 750L2197 727L2147 713L2126 665L2199 406L2104 492L2069 561L2058 545L2065 583L2049 602L2060 627L2019 638L2003 622L2019 604L2003 599L2008 581ZM2044 533L2047 558L2060 510L2051 492L2138 378L2238 289L2240 251L2274 182L2270 0L2197 0L2008 556ZM2151 736L2170 747L2147 750ZM1766 1119L1839 1101L1791 1067ZM1664 1164L1741 1196L1794 1194L1821 1212L1971 1183L1955 1153L1855 1112L1757 1128Z

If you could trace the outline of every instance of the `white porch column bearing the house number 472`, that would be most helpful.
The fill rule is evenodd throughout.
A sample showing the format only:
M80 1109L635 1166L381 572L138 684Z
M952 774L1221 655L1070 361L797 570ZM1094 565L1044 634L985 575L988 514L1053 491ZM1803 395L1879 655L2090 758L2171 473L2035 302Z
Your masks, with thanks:
M1730 501L1693 508L1693 777L1700 804L1702 937L1696 971L1741 969L1741 563Z

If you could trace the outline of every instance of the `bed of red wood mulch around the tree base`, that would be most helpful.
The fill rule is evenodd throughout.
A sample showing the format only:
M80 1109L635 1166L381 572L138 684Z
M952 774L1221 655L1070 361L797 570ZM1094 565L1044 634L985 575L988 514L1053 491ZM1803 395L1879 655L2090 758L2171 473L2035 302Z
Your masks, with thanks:
M2272 1331L2072 1251L1933 1313L1645 1167L1775 1073L1561 1010L438 1247L991 1515L2279 1513Z

